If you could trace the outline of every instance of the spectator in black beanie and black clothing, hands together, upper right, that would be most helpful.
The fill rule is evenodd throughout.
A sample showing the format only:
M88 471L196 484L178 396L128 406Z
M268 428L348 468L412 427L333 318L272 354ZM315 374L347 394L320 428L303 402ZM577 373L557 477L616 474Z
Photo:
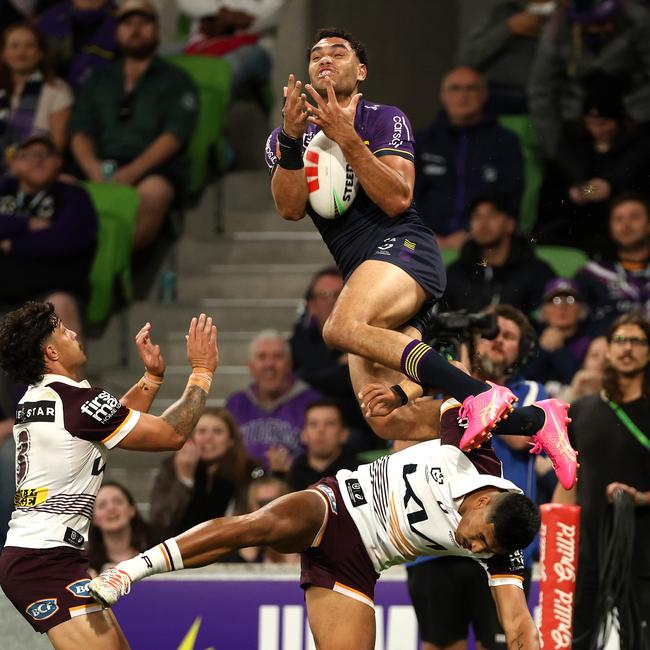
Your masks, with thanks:
M563 245L570 234L575 245L593 253L606 238L610 199L648 187L650 129L627 125L625 86L602 73L584 81L582 117L563 125L541 193L540 243Z

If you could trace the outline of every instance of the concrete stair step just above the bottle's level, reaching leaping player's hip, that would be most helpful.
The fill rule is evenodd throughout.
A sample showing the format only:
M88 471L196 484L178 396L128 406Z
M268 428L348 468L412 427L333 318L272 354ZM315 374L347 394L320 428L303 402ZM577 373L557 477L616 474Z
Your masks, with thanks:
M178 244L177 259L179 273L203 271L213 264L333 264L316 230L237 231L207 241L185 237Z

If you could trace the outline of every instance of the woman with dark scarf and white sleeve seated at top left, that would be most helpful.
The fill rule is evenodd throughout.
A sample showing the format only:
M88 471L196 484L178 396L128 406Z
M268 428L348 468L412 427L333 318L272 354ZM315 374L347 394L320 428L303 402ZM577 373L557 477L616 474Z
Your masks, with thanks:
M30 23L16 23L0 37L0 146L48 131L59 151L66 144L73 97L55 77L43 37Z

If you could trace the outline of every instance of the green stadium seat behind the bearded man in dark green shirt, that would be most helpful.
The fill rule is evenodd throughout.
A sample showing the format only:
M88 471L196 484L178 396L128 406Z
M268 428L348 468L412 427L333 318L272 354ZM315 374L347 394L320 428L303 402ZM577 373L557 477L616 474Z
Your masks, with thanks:
M221 132L230 101L230 65L224 59L211 56L173 54L165 59L185 70L199 92L199 113L187 149L190 158L188 193L196 196L205 186L210 165L220 158Z

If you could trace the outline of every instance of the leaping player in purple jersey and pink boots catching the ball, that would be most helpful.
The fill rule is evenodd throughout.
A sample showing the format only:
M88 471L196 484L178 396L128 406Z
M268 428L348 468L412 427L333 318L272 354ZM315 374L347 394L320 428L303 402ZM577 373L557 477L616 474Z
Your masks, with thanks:
M355 390L370 382L392 383L404 404L422 394L422 383L452 395L463 402L467 422L461 446L471 449L508 416L516 398L507 388L471 378L419 340L423 315L444 292L445 270L434 234L413 205L409 121L396 107L361 98L359 84L366 75L362 43L343 30L318 32L309 50L311 83L303 87L289 76L282 128L266 144L273 198L284 219L309 214L346 280L323 337L351 354ZM339 219L322 218L308 201L303 152L320 130L341 147L360 184ZM398 385L397 372L412 381ZM535 449L549 454L563 485L573 485L577 463L566 435L567 408L548 400L518 409L510 416L514 422L498 424L495 433L523 428L536 436ZM396 420L370 418L382 437L417 437L409 418L401 427Z

